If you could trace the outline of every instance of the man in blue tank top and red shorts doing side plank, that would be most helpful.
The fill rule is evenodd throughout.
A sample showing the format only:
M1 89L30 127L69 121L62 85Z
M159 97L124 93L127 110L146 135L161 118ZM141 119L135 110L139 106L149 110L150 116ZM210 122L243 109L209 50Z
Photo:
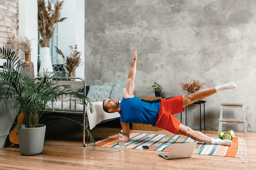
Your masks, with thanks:
M125 142L129 140L129 123L151 124L163 128L176 135L185 135L191 139L209 144L231 146L232 141L220 138L214 139L202 132L192 130L178 121L173 114L184 111L184 107L202 100L219 91L236 88L236 84L229 82L224 85L200 89L189 95L180 95L172 98L144 100L133 95L137 62L137 47L133 53L133 60L128 72L127 85L123 99L119 103L117 99L105 99L103 109L108 113L119 112L120 124L123 130Z

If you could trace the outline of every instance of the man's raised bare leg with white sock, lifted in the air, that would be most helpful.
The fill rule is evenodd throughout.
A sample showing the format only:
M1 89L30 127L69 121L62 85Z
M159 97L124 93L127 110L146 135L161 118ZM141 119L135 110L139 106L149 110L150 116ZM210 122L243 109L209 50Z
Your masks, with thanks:
M236 84L234 84L233 82L229 82L227 84L223 84L223 85L216 86L216 87L200 89L199 91L196 91L195 93L183 96L182 106L185 107L189 104L194 103L197 100L202 100L210 95L213 95L214 93L216 93L218 91L226 91L226 90L233 89L233 88L236 88Z

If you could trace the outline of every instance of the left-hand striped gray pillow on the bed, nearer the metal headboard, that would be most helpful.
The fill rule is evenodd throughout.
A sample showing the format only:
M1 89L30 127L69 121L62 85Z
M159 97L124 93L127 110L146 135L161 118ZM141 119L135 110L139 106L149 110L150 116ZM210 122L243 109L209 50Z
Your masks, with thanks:
M92 102L102 102L104 99L109 98L112 87L113 83L90 86L87 97Z

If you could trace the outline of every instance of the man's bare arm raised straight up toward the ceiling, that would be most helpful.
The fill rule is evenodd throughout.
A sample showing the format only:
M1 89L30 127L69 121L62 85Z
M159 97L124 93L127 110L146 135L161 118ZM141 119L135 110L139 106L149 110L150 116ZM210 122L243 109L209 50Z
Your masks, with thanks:
M136 64L137 64L137 46L135 47L132 64L128 72L126 90L124 91L124 95L123 95L124 98L134 97L133 91L134 91L134 81L135 81L135 75L136 75Z

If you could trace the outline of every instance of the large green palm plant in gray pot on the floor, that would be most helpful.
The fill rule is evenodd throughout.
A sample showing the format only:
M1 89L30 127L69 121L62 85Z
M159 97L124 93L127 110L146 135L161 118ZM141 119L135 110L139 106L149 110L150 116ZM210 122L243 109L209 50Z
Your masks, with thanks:
M40 81L35 82L29 75L20 73L20 60L16 60L13 55L6 59L3 66L0 66L0 92L14 100L12 109L18 108L23 113L24 119L21 126L18 126L18 141L22 155L36 155L42 152L45 137L45 125L39 124L43 111L49 105L49 102L56 102L62 95L72 95L86 104L87 98L76 92L70 85L60 85L51 73L45 72ZM51 76L51 77L50 77ZM92 105L90 105L92 106ZM82 125L82 124L81 124ZM95 144L94 138L87 127L83 127L88 132L90 142ZM41 130L37 132L36 130ZM29 131L30 135L25 135ZM32 132L31 132L32 131ZM31 135L34 134L34 135ZM39 137L38 135L43 135ZM40 144L40 146L36 146Z

